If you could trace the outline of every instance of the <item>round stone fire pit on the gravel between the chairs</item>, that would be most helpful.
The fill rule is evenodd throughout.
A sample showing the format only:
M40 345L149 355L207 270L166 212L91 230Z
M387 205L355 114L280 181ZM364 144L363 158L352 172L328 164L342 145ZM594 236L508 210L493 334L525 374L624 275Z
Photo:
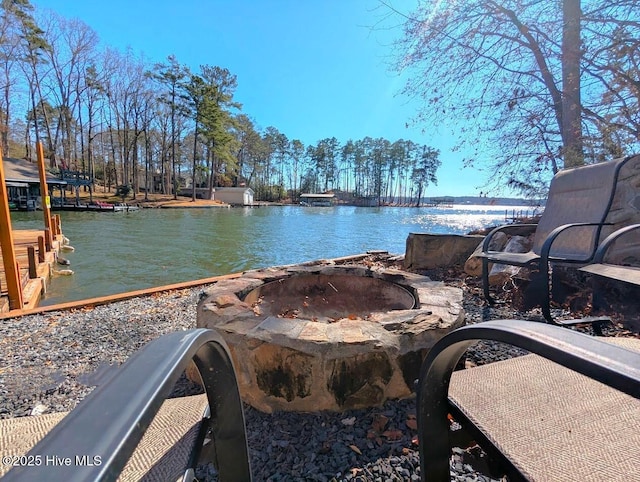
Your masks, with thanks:
M458 288L330 263L247 272L198 305L198 326L231 349L243 400L265 412L406 397L426 351L463 320Z

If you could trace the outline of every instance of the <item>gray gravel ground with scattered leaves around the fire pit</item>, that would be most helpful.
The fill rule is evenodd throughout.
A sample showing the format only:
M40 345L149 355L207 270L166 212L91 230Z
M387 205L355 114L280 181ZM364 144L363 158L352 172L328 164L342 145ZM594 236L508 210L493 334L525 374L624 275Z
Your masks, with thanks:
M468 322L536 316L516 313L509 305L485 307L477 285L462 278L449 281L464 288ZM123 363L162 334L195 327L196 305L205 289L0 320L0 418L73 409L106 367ZM614 327L607 334L623 331ZM467 363L519 354L483 343L468 353ZM414 399L344 413L245 410L255 480L419 480ZM452 480L501 480L478 471L482 454L474 448L456 449L451 466ZM210 469L200 475L215 478Z

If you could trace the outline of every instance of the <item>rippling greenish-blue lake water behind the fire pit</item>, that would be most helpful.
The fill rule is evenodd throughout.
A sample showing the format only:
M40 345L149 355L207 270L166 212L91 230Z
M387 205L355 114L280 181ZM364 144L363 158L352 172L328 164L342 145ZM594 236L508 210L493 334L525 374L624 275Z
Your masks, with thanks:
M73 276L56 276L42 305L368 250L403 254L409 233L465 234L504 223L505 210L454 208L142 209L60 212L75 252ZM529 208L531 209L531 208ZM12 213L14 229L42 229L41 212Z

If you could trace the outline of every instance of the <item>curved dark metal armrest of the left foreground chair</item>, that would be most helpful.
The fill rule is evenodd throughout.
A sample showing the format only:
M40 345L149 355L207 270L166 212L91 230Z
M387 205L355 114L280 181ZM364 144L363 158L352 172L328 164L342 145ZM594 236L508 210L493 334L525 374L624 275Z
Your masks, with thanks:
M47 456L71 461L81 455L99 456L99 465L42 463L16 467L5 479L116 480L191 360L207 393L220 479L250 480L244 414L229 349L218 333L205 329L171 333L146 345L28 454L42 461Z

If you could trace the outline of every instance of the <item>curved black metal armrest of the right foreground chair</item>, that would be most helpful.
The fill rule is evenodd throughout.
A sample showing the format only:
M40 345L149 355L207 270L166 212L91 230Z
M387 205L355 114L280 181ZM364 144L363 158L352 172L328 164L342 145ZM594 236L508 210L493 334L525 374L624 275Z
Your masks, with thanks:
M524 348L640 398L640 353L566 328L530 321L497 320L459 328L434 345L420 371L417 415L423 480L449 481L449 382L460 357L478 340Z

